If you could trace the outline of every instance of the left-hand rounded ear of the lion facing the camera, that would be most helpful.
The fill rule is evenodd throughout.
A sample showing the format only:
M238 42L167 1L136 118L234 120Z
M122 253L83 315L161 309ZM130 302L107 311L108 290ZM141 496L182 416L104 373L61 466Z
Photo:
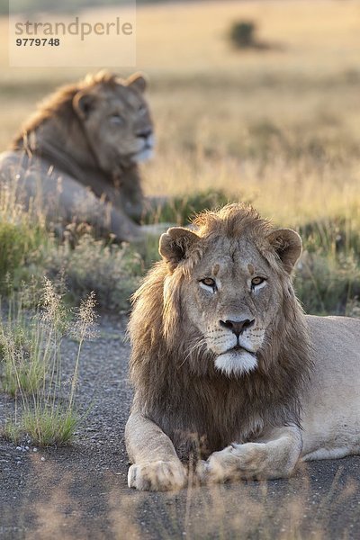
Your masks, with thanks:
M158 252L166 260L171 271L186 257L189 247L199 239L192 230L172 227L161 235Z

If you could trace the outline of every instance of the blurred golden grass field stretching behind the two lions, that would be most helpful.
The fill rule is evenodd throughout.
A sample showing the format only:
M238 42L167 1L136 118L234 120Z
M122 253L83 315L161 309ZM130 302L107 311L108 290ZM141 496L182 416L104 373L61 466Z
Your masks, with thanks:
M264 46L236 49L229 31L238 21L255 23ZM3 149L35 103L86 73L7 67L6 32L3 18ZM145 192L170 197L166 216L154 219L186 221L203 206L252 202L302 232L296 285L305 308L356 313L360 2L138 3L137 58L157 134L157 155L142 167ZM142 257L143 271L155 245Z

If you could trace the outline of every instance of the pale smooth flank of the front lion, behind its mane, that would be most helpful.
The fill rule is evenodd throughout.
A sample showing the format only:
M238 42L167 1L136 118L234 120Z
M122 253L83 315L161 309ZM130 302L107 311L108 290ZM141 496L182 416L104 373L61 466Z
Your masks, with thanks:
M321 459L356 454L360 450L354 443L360 441L360 320L306 319L314 367L303 400L303 455Z

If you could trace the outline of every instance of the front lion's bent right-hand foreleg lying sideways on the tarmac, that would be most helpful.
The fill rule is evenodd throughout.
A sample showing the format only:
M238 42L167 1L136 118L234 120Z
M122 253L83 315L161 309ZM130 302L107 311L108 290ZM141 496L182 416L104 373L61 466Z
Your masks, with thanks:
M302 452L300 428L272 428L256 443L233 444L211 454L202 463L203 480L286 478L293 473Z

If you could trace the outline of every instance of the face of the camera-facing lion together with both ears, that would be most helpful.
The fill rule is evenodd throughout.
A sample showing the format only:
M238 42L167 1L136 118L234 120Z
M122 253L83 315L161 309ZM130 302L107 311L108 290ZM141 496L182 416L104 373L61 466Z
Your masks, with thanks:
M220 236L209 241L209 238L199 238L185 231L184 242L180 230L169 229L163 235L160 252L172 265L174 253L176 257L180 254L175 247L179 241L186 246L189 260L192 251L201 253L191 265L191 271L184 272L182 316L198 330L202 344L215 356L219 370L226 374L244 374L256 369L257 353L266 345L266 337L283 305L284 286L290 280L289 269L301 253L299 235L280 229L268 238L261 238L261 242L247 235ZM279 249L279 246L284 248ZM276 249L283 257L278 257L279 263L276 263ZM185 267L186 255L168 278L170 289L176 273Z

